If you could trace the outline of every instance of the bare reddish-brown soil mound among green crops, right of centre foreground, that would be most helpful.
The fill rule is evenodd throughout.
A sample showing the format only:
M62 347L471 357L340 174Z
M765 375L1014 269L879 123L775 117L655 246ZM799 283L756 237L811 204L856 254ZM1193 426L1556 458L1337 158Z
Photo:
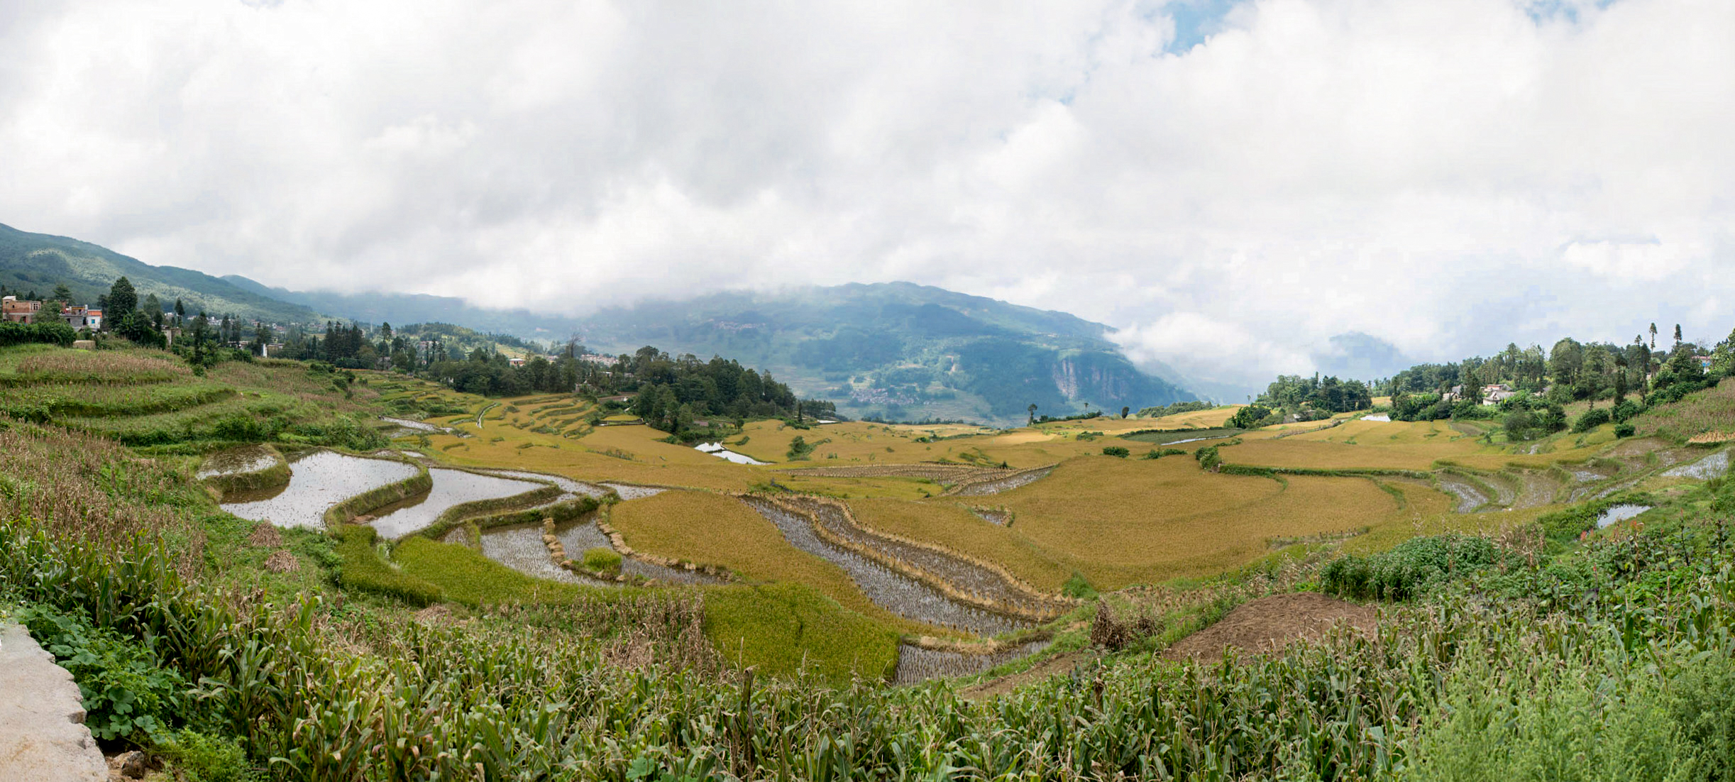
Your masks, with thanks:
M1379 624L1379 614L1374 609L1329 598L1317 591L1272 595L1246 603L1216 624L1182 638L1166 648L1162 657L1211 662L1223 657L1225 647L1235 647L1242 655L1272 652L1296 640L1319 638L1339 619L1348 621L1362 633L1372 633Z

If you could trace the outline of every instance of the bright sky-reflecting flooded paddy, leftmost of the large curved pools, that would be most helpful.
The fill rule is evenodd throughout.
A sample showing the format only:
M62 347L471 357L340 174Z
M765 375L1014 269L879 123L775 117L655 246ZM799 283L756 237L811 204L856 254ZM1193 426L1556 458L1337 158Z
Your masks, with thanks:
M312 451L290 461L290 482L259 494L241 494L222 510L278 527L324 527L324 512L356 494L404 480L416 468L403 461Z

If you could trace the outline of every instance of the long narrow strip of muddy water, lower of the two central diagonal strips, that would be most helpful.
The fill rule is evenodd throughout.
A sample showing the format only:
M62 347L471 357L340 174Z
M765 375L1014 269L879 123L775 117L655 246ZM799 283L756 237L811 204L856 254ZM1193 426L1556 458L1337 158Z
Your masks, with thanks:
M958 603L939 590L873 562L855 551L833 546L814 532L812 522L758 498L744 499L762 517L782 531L795 548L824 558L850 574L855 586L876 605L918 622L958 628L977 635L999 635L1027 628L1029 622Z

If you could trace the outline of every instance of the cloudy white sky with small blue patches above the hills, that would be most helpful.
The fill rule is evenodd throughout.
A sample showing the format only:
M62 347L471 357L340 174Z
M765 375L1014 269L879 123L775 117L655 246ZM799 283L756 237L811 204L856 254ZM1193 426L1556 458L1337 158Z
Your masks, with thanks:
M1735 326L1726 0L0 3L0 222L574 316L907 279L1206 383Z

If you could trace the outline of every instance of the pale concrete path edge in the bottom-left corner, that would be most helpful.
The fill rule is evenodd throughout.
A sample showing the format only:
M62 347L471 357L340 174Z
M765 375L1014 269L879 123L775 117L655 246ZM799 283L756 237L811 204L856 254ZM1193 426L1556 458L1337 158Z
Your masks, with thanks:
M19 624L0 624L0 779L108 779L73 674L54 664Z

